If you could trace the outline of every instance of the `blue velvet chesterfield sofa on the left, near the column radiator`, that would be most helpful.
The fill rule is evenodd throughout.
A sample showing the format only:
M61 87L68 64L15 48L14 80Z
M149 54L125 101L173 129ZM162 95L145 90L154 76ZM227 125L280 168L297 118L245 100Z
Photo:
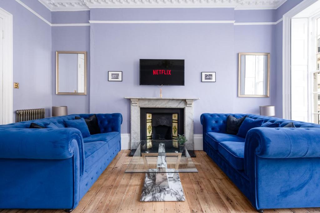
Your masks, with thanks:
M121 149L122 115L96 114L100 134L64 128L76 114L0 126L0 209L75 209ZM30 129L30 123L57 129Z

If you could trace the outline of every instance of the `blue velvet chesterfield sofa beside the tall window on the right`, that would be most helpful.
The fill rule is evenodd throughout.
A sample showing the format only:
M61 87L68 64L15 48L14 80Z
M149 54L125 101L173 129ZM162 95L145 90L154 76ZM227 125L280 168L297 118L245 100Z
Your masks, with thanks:
M228 115L289 122L259 127L245 138L226 134ZM320 125L251 114L201 115L203 149L259 212L320 207Z

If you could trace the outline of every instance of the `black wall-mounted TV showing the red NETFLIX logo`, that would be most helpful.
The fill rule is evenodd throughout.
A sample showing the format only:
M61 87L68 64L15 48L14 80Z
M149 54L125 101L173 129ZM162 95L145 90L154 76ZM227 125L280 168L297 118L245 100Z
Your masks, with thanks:
M140 59L140 85L184 85L184 60Z

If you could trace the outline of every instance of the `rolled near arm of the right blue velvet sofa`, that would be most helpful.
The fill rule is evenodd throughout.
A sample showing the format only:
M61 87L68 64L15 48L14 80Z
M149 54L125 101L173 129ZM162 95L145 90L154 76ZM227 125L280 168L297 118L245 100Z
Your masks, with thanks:
M318 128L253 128L245 141L244 157L263 158L320 157Z

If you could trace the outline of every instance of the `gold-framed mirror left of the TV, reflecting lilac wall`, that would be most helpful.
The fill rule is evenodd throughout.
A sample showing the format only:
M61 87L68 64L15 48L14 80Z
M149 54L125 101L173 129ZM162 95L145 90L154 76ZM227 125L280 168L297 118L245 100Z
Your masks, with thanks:
M57 51L58 95L86 95L86 52Z

